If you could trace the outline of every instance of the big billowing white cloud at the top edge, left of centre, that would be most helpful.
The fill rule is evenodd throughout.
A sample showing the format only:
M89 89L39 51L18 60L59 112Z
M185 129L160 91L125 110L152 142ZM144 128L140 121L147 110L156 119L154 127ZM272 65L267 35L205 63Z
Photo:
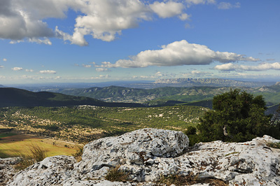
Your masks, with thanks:
M55 29L57 36L77 45L87 45L85 35L103 41L113 41L123 29L138 26L141 20L151 20L151 10L139 0L91 0L85 1L76 17L73 35Z

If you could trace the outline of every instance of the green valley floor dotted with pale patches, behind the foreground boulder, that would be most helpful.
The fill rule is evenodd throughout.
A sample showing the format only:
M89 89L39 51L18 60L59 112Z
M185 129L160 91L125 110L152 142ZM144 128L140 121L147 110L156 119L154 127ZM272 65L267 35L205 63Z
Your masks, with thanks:
M196 125L206 110L208 108L197 106L14 107L1 108L0 124L27 134L82 143L145 127L184 131L188 126Z

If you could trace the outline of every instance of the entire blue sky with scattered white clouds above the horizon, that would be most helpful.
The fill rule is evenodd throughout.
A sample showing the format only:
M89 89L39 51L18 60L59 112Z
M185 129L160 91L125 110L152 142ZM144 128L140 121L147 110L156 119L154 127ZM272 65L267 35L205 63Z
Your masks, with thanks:
M1 0L0 84L280 81L279 0Z

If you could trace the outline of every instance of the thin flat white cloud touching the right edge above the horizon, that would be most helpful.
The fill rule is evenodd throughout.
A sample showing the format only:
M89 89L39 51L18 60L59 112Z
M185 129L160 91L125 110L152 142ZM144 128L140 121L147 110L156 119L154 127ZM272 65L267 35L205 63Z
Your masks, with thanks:
M280 63L262 63L257 66L237 65L237 64L221 64L214 67L219 71L267 71L267 70L280 70Z

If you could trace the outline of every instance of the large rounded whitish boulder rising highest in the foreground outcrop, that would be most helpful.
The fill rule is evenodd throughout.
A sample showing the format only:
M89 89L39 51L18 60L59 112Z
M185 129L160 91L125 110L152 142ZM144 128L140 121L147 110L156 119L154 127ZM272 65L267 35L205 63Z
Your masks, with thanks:
M80 171L96 171L119 164L145 164L155 157L176 157L188 148L181 131L139 129L118 137L100 138L85 145Z

